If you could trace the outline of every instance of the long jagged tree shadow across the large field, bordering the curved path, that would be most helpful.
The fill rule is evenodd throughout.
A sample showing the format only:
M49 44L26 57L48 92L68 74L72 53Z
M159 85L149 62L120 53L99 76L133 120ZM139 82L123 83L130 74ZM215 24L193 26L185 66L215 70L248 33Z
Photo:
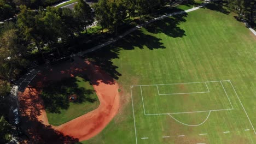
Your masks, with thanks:
M118 67L112 62L113 59L119 59L119 53L122 50L139 49L166 49L162 39L155 37L154 34L164 33L169 37L181 38L185 36L185 31L178 25L185 22L187 14L167 17L164 20L158 20L145 26L143 29L138 29L123 39L116 41L114 44L102 47L100 50L87 53L85 58L106 71L113 79L118 80L121 74ZM148 32L145 32L148 31ZM143 52L142 52L143 55ZM131 60L132 61L132 60Z

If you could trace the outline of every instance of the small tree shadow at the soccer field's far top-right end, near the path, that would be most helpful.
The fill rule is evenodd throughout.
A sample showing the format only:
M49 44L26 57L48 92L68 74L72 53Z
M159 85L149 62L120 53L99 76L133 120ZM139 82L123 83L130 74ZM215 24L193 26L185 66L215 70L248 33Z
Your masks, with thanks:
M203 7L203 8L218 11L218 12L226 14L226 15L230 14L230 11L228 9L226 9L224 6L225 6L224 2L215 2L215 3L212 2L212 3L206 4L205 7Z

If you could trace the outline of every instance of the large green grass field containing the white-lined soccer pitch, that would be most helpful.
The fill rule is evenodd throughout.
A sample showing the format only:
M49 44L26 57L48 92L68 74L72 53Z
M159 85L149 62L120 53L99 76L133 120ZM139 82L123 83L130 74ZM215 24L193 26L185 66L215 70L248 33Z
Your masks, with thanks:
M89 54L117 79L122 106L82 143L256 142L256 37L213 6L156 21ZM160 85L208 81L218 82Z

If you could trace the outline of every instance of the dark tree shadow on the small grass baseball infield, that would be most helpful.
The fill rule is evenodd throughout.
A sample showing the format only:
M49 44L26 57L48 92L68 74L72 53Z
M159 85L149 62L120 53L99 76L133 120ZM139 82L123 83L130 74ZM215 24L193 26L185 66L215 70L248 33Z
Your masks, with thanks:
M79 81L76 77L48 82L40 94L45 110L51 113L61 113L61 110L69 108L69 103L83 103L84 101L94 103L96 99L90 98L90 94L93 94L94 91L79 87L77 82ZM71 100L73 96L75 100Z

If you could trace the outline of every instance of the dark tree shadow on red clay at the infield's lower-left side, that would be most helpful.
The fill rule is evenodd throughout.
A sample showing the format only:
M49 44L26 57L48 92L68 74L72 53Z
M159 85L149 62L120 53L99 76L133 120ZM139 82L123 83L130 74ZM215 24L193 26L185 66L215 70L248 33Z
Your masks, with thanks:
M28 87L25 94L20 95L20 138L21 143L78 143L79 140L63 135L51 127L38 121L38 116L44 110L42 100L38 99L38 91Z

